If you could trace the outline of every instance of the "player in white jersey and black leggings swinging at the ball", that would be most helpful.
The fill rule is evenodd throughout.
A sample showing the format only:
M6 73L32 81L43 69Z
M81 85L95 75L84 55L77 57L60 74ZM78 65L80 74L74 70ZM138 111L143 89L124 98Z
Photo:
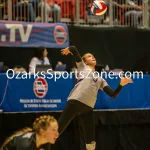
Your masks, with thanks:
M61 134L71 120L78 115L84 131L86 149L94 150L96 142L93 108L96 103L98 90L103 90L109 96L115 98L120 93L122 87L131 83L132 80L130 78L121 78L120 84L113 90L103 78L95 78L96 59L92 54L87 53L81 58L75 46L63 49L61 53L63 55L71 53L74 56L79 76L78 82L71 91L67 104L58 121L59 134Z

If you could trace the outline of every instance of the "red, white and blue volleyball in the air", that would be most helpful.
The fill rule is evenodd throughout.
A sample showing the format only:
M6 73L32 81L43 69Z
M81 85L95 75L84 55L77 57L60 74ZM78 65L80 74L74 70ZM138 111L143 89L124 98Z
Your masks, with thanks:
M104 15L107 11L107 4L103 0L94 0L91 5L91 12L96 16Z

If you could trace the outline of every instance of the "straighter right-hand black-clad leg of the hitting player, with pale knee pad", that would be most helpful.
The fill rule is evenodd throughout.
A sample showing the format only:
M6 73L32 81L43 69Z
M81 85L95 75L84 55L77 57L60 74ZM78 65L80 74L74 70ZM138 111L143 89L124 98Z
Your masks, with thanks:
M96 142L93 110L81 114L79 117L83 127L86 150L95 150Z

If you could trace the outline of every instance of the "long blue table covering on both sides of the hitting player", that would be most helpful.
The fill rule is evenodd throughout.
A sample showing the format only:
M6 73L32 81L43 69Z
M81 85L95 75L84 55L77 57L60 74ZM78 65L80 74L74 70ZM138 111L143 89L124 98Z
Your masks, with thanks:
M1 74L0 109L4 112L62 111L76 83L75 76L46 74L45 77L40 77ZM113 89L120 82L118 76L105 79ZM149 85L150 76L144 75L143 78L134 78L133 83L126 85L115 99L99 91L94 108L96 110L149 109Z

